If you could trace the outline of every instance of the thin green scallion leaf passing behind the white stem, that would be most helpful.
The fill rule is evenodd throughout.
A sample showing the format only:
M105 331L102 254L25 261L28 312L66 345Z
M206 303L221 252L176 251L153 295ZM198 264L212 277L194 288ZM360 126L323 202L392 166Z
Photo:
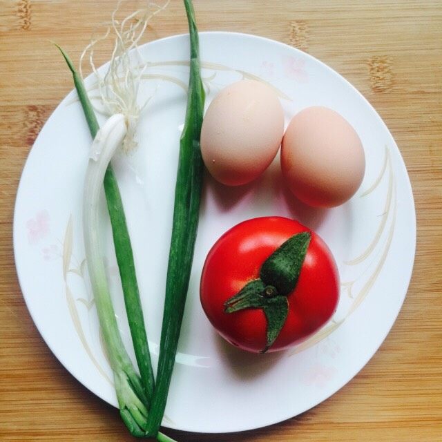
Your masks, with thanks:
M78 75L66 52L64 52L60 46L56 46L61 51L61 55L63 55L73 75L75 88L77 89L84 116L89 126L90 135L95 138L95 135L97 135L99 131L99 124L88 94L86 93L83 80ZM119 193L117 178L115 177L111 163L108 164L106 174L104 175L104 193L106 194L108 212L111 218L115 256L117 257L119 276L122 280L124 304L126 305L129 328L131 329L133 348L147 398L145 405L148 407L155 385L151 354L148 349L140 291L138 290L137 276L135 275L131 239L129 238L127 229L122 197Z

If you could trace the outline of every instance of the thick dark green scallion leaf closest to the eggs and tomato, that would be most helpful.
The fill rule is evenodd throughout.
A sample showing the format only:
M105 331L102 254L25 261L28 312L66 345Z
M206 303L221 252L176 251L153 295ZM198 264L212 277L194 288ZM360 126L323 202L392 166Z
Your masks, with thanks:
M199 40L195 12L191 0L184 0L184 6L189 22L191 44L189 91L186 119L180 138L157 384L147 419L146 435L151 437L157 435L166 408L189 288L202 189L203 164L200 151L200 133L205 97L200 75Z

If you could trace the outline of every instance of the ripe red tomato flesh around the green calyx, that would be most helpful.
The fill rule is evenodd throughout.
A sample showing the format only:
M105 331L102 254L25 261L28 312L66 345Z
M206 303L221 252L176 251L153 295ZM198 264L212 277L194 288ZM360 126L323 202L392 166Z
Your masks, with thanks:
M251 280L262 263L296 233L309 231L311 240L296 287L289 295L287 320L269 352L301 343L332 317L339 299L336 262L325 242L299 222L280 217L241 222L215 242L202 270L202 307L220 335L249 352L266 347L267 319L262 309L224 311L224 302Z

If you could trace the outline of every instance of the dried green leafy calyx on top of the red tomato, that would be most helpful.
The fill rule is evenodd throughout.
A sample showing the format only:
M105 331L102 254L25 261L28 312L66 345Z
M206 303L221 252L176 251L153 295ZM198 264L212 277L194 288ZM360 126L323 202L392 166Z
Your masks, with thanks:
M296 233L274 251L260 268L260 277L247 282L224 302L227 314L243 309L262 309L267 319L267 343L261 353L278 338L289 313L287 296L294 291L311 240L309 231Z

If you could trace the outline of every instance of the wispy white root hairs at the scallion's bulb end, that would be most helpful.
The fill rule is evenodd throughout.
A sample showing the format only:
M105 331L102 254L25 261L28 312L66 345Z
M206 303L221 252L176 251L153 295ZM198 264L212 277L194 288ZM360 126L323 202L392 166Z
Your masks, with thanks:
M112 12L111 21L102 23L93 32L89 44L81 53L79 74L84 79L83 65L87 59L92 72L97 77L99 101L103 107L94 106L95 110L108 116L122 113L126 117L128 131L123 142L123 150L127 153L137 145L134 140L135 129L140 113L149 101L148 98L139 104L137 99L140 82L147 66L138 44L148 22L164 10L170 0L166 0L163 5L146 1L142 8L119 20L117 15L125 1L128 0L119 0ZM94 55L97 46L108 39L113 40L112 56L108 70L102 75L95 66Z

